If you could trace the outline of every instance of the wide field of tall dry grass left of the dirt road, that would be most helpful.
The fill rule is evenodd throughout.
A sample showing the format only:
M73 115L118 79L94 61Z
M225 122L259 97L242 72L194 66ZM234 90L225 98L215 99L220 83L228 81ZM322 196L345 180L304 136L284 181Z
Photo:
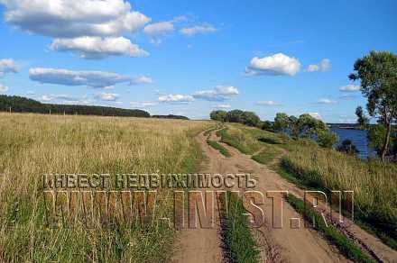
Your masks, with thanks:
M202 159L194 137L209 122L8 113L0 120L1 262L170 257L174 232L162 226L45 227L42 174L194 172ZM171 204L161 202L156 216L171 217Z

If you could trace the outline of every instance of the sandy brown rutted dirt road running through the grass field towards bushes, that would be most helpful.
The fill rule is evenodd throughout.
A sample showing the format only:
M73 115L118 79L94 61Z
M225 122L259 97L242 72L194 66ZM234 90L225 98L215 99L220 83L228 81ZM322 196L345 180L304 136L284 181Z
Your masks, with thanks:
M250 173L257 180L255 190L266 191L288 190L291 194L302 196L301 190L280 177L272 169L261 165L232 147L222 144L232 157L225 158L217 150L208 146L206 137L198 137L200 146L207 156L202 172L211 174ZM211 140L219 141L215 132ZM272 199L265 197L262 205L266 223L259 229L253 229L255 240L261 249L263 262L349 262L337 248L324 240L319 232L303 227L291 228L291 218L301 218L300 214L288 203L283 203L283 227L272 228ZM212 230L184 230L176 244L173 262L222 262L225 261L222 242L219 235L219 222Z

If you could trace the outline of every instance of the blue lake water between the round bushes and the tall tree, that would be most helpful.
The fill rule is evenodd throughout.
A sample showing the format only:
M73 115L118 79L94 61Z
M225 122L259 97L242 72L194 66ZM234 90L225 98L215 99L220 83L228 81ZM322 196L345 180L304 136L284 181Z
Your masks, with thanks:
M342 141L348 139L353 141L355 147L360 152L358 153L358 157L361 159L367 159L368 156L374 156L375 152L368 146L368 139L366 138L366 131L363 130L353 130L353 129L338 129L332 128L331 132L337 133L339 137L339 141L337 141L337 145L341 144Z

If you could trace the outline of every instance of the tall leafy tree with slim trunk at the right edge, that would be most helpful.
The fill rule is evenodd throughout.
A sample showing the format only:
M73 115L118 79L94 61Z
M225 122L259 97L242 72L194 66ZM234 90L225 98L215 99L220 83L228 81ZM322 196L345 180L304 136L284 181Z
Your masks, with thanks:
M370 116L382 120L385 128L381 159L385 159L390 144L392 123L397 119L397 56L391 52L372 51L355 61L351 80L361 81L361 92L368 99Z

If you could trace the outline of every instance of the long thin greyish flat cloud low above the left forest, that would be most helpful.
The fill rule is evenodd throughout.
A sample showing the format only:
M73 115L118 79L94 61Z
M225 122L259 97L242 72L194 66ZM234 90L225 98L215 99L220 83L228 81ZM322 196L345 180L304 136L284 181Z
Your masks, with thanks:
M57 68L30 68L29 77L41 83L64 86L104 88L119 83L131 83L131 77L102 71L71 71Z

